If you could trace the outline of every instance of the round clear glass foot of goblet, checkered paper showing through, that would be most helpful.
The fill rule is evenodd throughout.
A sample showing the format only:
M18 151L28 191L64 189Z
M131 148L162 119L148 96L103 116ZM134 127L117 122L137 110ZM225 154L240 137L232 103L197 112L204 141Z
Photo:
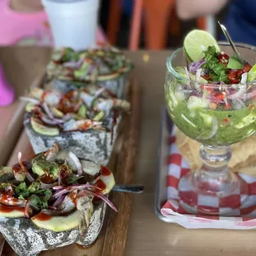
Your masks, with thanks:
M184 175L178 184L183 209L192 214L231 216L247 200L249 189L235 173L224 173L201 169Z

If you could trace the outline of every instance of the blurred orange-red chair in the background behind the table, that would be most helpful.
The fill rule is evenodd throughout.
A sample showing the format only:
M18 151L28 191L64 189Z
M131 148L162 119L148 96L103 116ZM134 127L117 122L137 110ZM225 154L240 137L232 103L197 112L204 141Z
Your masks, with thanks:
M134 11L130 28L130 50L140 45L140 27L143 18L145 24L145 45L149 50L164 49L167 43L168 24L174 34L179 33L179 21L175 12L175 0L134 0ZM112 45L121 21L121 0L111 0L107 24L107 39ZM197 26L206 30L206 18L197 18Z

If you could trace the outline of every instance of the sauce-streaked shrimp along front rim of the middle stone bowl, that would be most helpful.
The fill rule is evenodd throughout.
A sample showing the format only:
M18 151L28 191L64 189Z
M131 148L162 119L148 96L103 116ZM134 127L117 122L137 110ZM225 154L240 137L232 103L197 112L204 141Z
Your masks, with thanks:
M89 119L75 121L73 119L64 123L64 131L70 130L103 130L102 121L92 121Z

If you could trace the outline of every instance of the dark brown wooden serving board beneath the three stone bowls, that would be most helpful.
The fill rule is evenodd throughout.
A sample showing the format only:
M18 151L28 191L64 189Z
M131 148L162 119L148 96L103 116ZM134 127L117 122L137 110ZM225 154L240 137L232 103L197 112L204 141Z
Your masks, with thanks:
M108 168L116 178L116 184L135 183L135 164L140 135L140 102L139 84L130 79L129 100L131 103L130 115L123 116L119 135L111 154ZM15 149L9 158L8 165L17 164L17 154L22 153L22 159L34 154L25 130L22 131ZM111 192L111 201L118 209L118 213L107 208L102 231L97 240L88 248L78 244L41 252L40 255L50 256L122 256L126 246L126 235L130 219L132 196L122 192ZM9 244L5 243L2 255L17 255Z

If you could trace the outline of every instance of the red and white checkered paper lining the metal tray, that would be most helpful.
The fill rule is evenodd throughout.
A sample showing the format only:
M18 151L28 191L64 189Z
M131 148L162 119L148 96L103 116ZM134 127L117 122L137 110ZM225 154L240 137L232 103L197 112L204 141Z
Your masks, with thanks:
M193 197L194 206L199 209L201 206L216 210L227 210L225 216L201 216L192 215L183 209L183 201L179 200L178 183L184 174L190 171L189 166L183 156L178 153L178 147L175 144L174 131L170 135L170 155L167 176L168 201L161 209L163 216L173 222L183 225L188 229L232 229L232 230L251 230L256 228L256 177L250 177L244 173L239 176L249 185L249 198L239 209L226 208L227 203L230 206L240 205L241 199L244 197L242 189L225 197L220 201L216 197L198 196ZM183 193L193 193L189 187L184 184ZM225 202L225 208L221 206Z

